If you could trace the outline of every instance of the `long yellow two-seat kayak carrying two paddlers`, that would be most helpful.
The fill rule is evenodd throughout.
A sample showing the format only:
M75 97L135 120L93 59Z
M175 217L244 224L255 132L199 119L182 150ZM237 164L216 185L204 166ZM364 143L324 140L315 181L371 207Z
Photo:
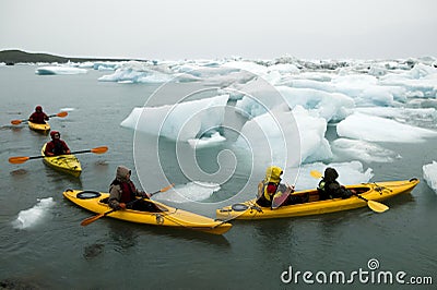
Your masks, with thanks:
M366 205L368 205L375 212L379 212L379 207L387 206L377 202L393 197L398 194L409 193L418 184L418 179L412 178L410 180L402 181L346 185L346 189L354 190L357 195L345 200L333 198L319 201L319 194L317 190L298 191L293 193L293 195L309 195L309 201L307 203L284 205L276 209L271 209L270 207L261 207L256 204L256 200L251 200L245 203L234 204L217 209L216 218L221 220L229 220L299 217L354 209L364 207ZM382 208L380 212L387 209Z

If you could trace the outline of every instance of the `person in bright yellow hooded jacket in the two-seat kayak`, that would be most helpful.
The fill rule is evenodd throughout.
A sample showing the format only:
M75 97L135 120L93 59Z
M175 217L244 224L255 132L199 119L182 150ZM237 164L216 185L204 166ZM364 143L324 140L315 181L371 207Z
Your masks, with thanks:
M265 170L265 178L258 184L258 198L257 204L262 207L271 207L273 200L283 194L287 194L288 196L286 201L282 203L282 205L292 205L307 202L307 197L303 198L299 195L292 195L294 192L294 186L287 186L281 183L281 176L283 171L277 166L270 166Z

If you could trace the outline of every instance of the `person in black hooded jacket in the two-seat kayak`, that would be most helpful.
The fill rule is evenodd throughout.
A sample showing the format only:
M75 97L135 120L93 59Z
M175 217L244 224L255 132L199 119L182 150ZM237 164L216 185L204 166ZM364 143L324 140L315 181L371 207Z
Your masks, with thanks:
M332 167L324 169L324 177L317 188L320 201L330 198L349 198L353 195L352 191L346 190L346 188L336 181L338 177L339 173Z

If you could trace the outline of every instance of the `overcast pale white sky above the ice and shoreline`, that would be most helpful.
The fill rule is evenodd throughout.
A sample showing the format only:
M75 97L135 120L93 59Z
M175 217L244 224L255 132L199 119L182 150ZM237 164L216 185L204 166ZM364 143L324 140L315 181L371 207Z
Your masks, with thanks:
M436 0L0 0L0 50L139 59L437 57Z

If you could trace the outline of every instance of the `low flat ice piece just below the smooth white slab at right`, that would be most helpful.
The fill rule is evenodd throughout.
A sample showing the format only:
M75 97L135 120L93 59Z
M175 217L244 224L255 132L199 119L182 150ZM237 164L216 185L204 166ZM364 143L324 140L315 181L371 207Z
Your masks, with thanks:
M332 142L333 153L340 153L366 162L392 162L401 158L394 152L361 140L338 138Z

